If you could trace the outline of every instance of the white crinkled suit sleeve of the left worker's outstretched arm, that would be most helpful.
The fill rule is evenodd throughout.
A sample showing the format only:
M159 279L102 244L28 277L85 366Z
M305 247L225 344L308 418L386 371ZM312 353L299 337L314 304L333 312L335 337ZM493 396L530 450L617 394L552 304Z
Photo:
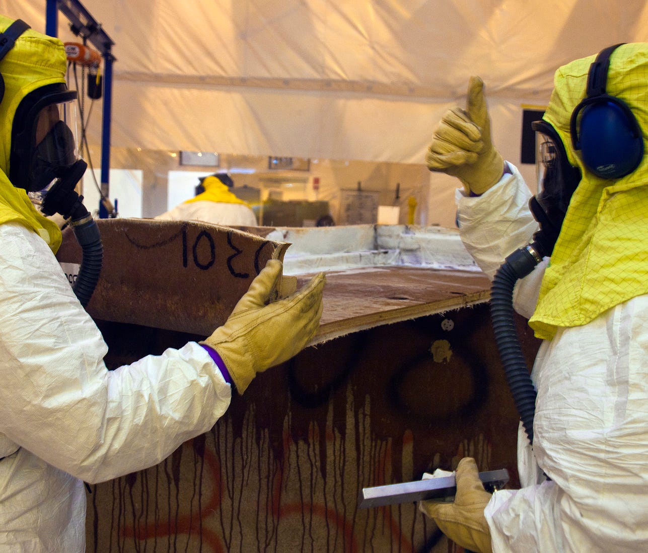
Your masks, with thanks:
M0 432L95 483L210 429L231 387L196 343L108 371L106 344L47 245L0 225Z

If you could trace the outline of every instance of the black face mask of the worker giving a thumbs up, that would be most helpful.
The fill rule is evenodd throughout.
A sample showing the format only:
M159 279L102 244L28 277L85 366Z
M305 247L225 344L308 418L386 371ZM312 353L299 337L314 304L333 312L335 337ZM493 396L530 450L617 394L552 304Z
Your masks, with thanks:
M536 137L538 188L529 207L547 238L555 243L573 192L581 182L581 171L570 164L562 140L553 126L546 121L535 121L531 127Z

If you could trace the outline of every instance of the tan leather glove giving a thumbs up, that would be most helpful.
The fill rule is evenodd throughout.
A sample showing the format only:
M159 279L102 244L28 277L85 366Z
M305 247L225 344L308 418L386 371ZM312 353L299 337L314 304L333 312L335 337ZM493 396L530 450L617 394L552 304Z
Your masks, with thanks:
M502 178L504 160L491 140L483 81L470 77L466 109L446 111L434 129L425 161L430 171L453 175L466 193L483 194Z

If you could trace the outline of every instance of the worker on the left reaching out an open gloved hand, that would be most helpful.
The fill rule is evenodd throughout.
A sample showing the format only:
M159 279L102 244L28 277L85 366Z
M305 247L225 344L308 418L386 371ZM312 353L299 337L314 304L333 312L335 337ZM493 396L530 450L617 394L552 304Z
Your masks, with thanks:
M65 67L61 41L0 16L1 552L84 552L83 481L147 468L208 431L232 387L299 352L321 315L321 274L266 305L282 270L269 261L205 342L108 371L54 257L60 230L27 194L77 164Z

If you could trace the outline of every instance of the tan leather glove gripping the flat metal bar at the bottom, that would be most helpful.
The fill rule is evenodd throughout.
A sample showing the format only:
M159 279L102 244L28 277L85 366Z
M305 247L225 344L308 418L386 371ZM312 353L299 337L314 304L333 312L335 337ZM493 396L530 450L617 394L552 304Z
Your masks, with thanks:
M459 461L455 480L454 503L421 501L419 510L432 517L439 530L457 545L478 553L492 553L491 530L484 516L491 494L484 490L472 457Z

